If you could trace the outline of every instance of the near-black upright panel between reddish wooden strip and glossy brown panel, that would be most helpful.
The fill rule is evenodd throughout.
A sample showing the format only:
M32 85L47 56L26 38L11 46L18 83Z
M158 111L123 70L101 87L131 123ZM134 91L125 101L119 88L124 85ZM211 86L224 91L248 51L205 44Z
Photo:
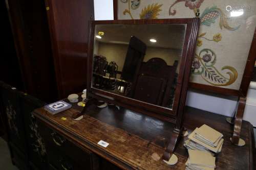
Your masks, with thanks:
M42 101L56 101L57 85L44 0L20 1L31 54L30 74L35 88L32 95Z

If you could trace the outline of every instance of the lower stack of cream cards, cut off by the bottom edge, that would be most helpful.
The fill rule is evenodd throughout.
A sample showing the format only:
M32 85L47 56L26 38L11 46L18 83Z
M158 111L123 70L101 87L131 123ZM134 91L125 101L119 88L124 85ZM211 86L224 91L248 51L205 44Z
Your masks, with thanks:
M214 170L216 167L215 157L209 152L188 150L188 155L185 170Z

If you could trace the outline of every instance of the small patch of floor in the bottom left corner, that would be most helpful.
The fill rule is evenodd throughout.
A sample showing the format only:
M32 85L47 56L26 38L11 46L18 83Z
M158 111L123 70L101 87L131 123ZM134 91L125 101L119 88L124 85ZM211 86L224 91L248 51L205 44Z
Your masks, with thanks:
M12 165L11 156L8 150L8 145L4 139L0 137L0 169L18 170L18 168Z

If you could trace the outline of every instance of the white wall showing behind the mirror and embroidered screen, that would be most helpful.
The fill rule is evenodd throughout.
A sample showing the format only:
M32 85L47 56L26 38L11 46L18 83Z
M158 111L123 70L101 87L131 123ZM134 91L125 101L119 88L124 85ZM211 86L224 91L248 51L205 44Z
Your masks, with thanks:
M113 0L94 0L94 13L95 20L112 20L114 18ZM186 105L231 117L237 106L237 98L188 91ZM248 91L244 119L256 127L256 89Z

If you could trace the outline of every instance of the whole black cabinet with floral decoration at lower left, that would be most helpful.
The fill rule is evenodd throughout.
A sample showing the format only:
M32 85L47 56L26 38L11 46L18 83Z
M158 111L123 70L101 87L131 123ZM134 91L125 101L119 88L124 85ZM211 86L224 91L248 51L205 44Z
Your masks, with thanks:
M47 169L44 141L32 111L45 103L0 82L0 110L12 163L19 169Z

